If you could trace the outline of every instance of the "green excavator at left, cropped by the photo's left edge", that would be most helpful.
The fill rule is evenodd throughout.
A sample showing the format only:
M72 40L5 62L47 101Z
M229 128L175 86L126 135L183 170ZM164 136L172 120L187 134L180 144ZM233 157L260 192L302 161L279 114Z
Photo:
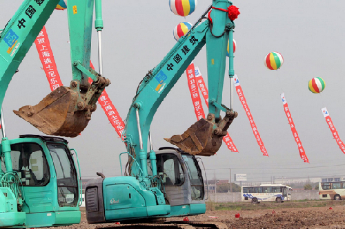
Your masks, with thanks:
M25 0L0 34L0 228L43 227L79 223L81 180L77 152L67 140L41 135L6 137L2 104L10 80L46 24L59 0ZM47 135L76 137L91 119L103 89L110 84L90 69L92 17L103 28L101 1L69 0L68 24L72 81L38 105L14 111ZM101 50L99 50L101 52ZM101 65L100 65L101 66ZM88 77L93 80L88 83ZM20 93L19 93L20 95Z

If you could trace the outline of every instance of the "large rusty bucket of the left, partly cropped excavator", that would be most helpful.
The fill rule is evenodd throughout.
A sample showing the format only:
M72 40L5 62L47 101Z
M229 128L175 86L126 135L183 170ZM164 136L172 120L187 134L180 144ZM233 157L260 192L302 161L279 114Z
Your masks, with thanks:
M24 106L13 112L43 133L74 138L91 119L90 109L76 109L80 105L77 104L78 96L69 87L59 87L38 105Z

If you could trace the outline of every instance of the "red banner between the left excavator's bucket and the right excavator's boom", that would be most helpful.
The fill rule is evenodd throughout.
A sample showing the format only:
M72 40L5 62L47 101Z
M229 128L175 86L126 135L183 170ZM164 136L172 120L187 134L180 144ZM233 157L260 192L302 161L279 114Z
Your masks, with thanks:
M90 63L90 67L92 69L95 69L93 67L92 63ZM88 78L88 83L92 83L92 79ZM119 112L117 112L117 109L114 105L112 105L112 102L108 96L108 93L106 93L106 90L104 89L101 96L98 98L98 102L101 105L104 113L106 113L106 116L108 117L109 122L112 124L112 127L115 128L116 133L121 138L122 132L124 132L125 124L122 118L119 115Z

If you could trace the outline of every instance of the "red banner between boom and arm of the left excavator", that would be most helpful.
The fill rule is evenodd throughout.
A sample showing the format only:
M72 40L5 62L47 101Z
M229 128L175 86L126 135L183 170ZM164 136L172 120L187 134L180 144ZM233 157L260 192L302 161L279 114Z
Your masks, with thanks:
M54 55L52 54L52 49L50 48L45 26L43 26L43 29L41 32L39 32L34 44L36 45L37 52L39 52L39 59L43 65L44 72L46 72L50 89L54 91L58 87L62 86L62 82L59 72L57 72L57 65L55 64Z

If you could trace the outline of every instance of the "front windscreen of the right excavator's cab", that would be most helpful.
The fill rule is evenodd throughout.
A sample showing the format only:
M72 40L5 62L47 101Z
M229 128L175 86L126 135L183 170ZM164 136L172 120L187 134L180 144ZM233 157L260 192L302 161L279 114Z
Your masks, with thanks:
M190 186L192 191L192 200L204 199L204 181L202 179L201 170L197 160L193 155L182 155L184 164L188 170L188 176L190 179Z

